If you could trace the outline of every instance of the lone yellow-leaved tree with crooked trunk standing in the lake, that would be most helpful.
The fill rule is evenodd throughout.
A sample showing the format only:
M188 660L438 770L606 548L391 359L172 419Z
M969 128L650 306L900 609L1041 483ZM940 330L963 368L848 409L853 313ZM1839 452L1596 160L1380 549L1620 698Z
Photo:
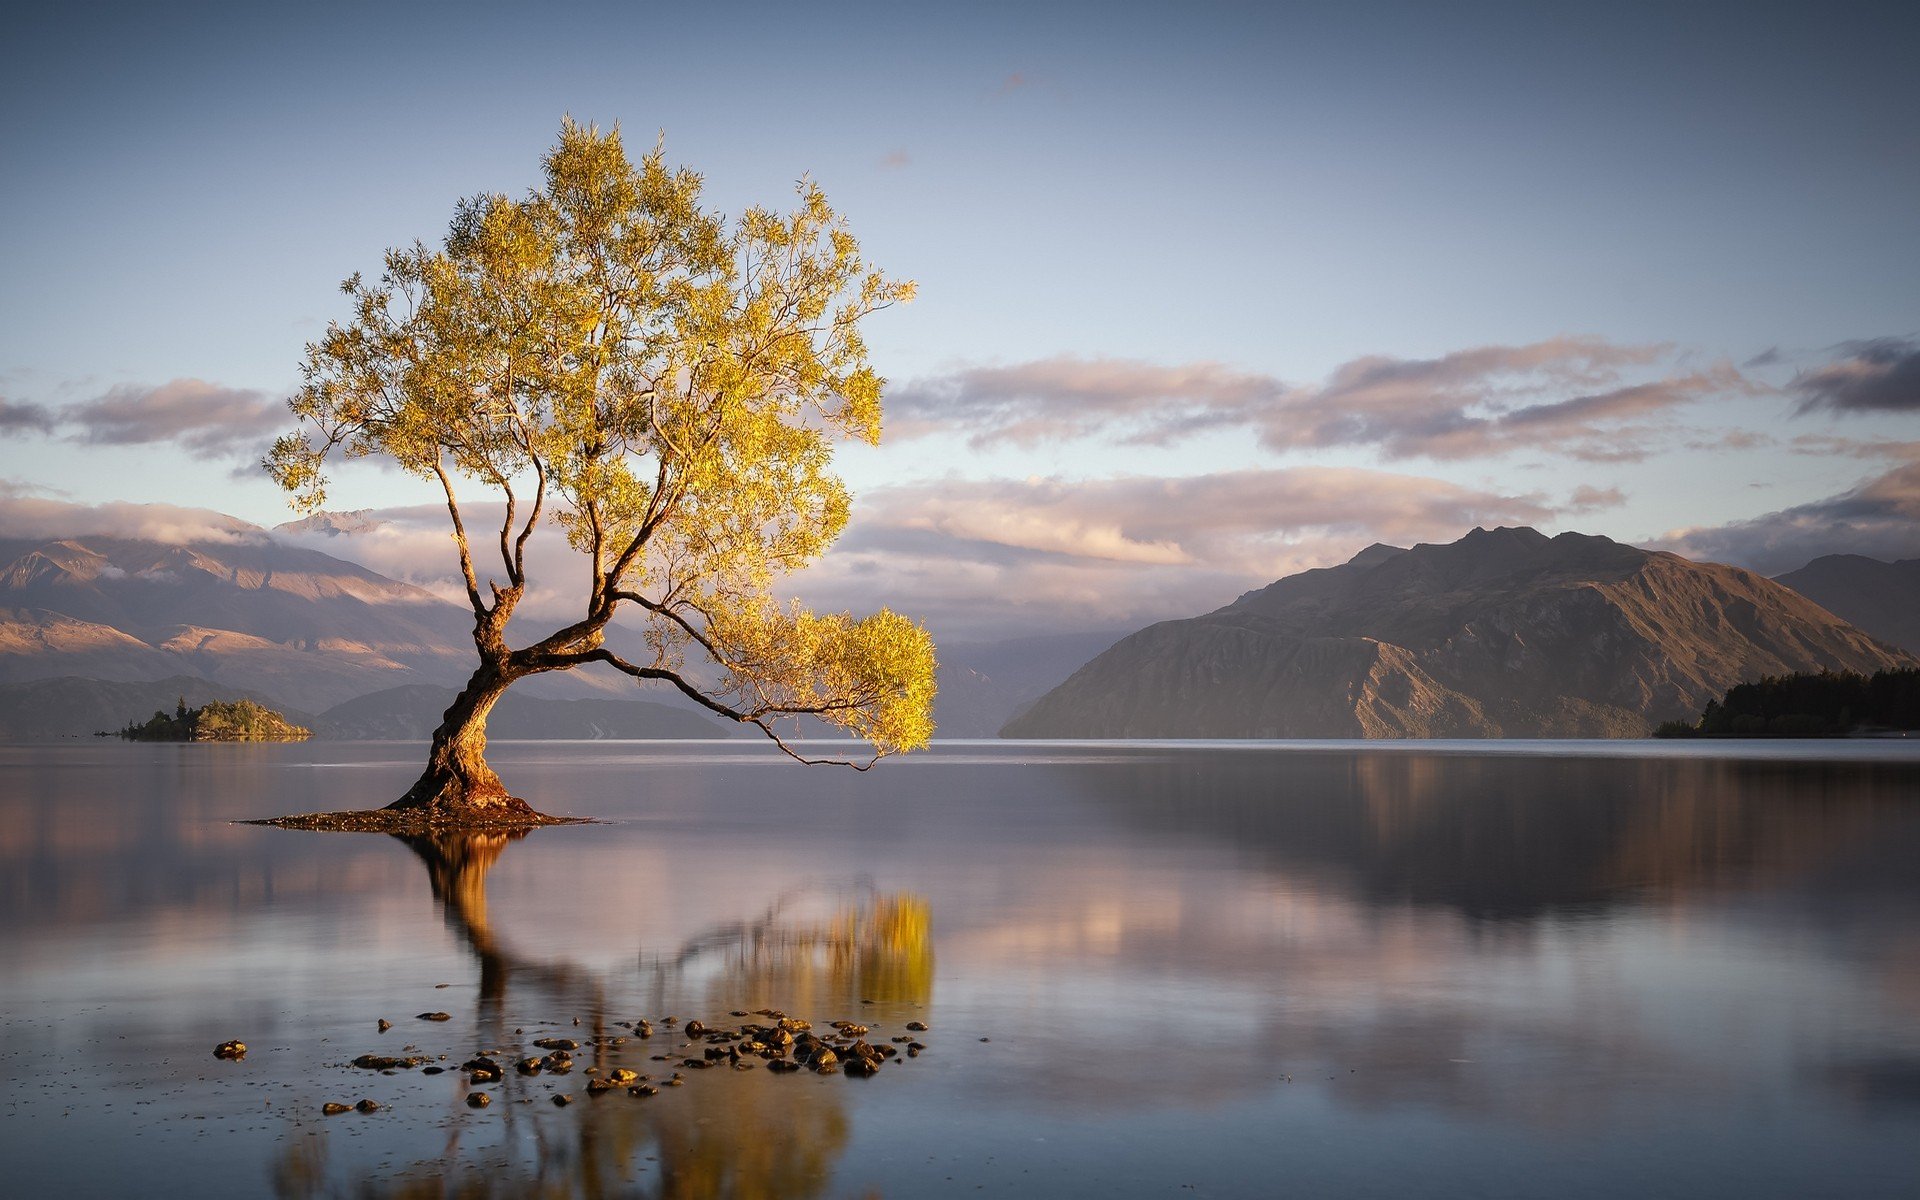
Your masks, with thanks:
M810 180L791 213L728 223L701 207L699 175L659 148L634 163L618 129L572 119L543 165L524 200L465 200L442 248L390 250L380 282L346 280L353 319L307 348L300 430L265 463L301 511L324 503L336 451L388 457L445 495L480 664L388 808L538 818L486 764L488 712L515 680L593 662L758 726L803 762L781 733L799 718L866 739L862 768L925 745L922 626L770 591L847 524L833 444L879 440L860 323L914 286L860 259ZM457 482L503 507L497 568L476 561ZM586 559L582 616L515 649L507 622L547 516ZM639 660L605 645L622 611L645 626Z

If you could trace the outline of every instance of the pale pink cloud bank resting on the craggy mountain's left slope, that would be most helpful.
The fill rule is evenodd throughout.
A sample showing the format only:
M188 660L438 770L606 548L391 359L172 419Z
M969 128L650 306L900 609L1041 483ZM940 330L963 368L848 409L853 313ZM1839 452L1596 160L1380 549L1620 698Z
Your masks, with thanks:
M1133 628L1192 616L1371 541L1548 522L1540 495L1386 470L1296 467L1092 482L941 480L860 497L795 578L822 609L889 605L943 637Z

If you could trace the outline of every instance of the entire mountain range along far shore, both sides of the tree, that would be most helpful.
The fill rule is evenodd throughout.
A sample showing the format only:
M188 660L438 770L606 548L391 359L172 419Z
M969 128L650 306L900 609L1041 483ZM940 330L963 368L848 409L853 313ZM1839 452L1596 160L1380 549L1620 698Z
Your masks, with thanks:
M0 538L0 737L111 730L182 695L253 699L319 737L424 737L472 668L468 612L232 526L190 545ZM324 513L282 532L349 547L374 528ZM1920 561L1830 555L1770 582L1475 530L1131 636L943 643L935 720L941 737L1640 735L1761 674L1914 664L1916 611ZM589 672L528 680L493 720L499 737L732 732Z

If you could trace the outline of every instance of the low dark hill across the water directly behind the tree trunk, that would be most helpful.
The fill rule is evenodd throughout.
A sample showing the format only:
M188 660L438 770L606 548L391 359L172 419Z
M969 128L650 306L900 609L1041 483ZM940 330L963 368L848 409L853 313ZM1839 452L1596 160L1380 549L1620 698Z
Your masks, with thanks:
M340 741L426 739L453 703L451 687L390 687L313 718L317 737ZM739 726L651 701L547 701L509 691L488 718L488 737L733 737Z

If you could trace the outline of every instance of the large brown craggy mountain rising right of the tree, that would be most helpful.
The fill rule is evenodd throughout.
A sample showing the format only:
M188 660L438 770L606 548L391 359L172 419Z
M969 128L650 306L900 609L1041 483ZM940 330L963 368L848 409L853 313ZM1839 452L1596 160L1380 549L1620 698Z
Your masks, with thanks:
M1916 664L1745 570L1475 530L1140 630L1002 735L1638 737L1743 680Z

